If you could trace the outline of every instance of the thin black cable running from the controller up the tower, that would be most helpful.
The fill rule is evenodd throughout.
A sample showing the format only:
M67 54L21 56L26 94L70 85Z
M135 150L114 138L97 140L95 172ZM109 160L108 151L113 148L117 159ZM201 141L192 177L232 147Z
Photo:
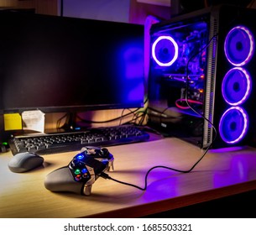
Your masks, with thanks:
M194 59L196 55L198 55L199 53L201 53L201 51L206 50L206 48L209 46L209 44L211 44L212 40L213 40L213 39L216 39L216 38L217 38L217 34L214 35L214 36L212 37L212 39L210 39L210 41L208 42L208 44L206 44L205 47L203 47L201 50L199 50L195 55L191 56L191 58L190 58L190 59L188 60L188 62L187 62L186 71L188 71L188 64L189 64L189 62L190 62L192 59ZM116 181L116 182L118 182L118 183L120 183L120 184L123 184L123 185L130 185L130 186L133 186L133 187L135 187L135 188L137 188L138 190L141 190L141 191L146 191L146 189L147 189L147 187L148 187L148 176L149 176L150 171L152 171L152 170L154 170L154 169L157 169L157 168L164 168L164 169L167 169L167 170L174 170L174 171L180 172L180 173L190 173L190 172L196 167L196 165L199 164L199 162L201 161L201 159L203 159L203 158L205 157L206 153L207 153L208 150L211 148L211 146L212 146L212 144L213 144L213 142L214 142L214 140L215 140L215 138L216 138L216 136L217 136L217 130L216 130L216 128L214 127L213 123L212 123L209 119L207 119L207 118L204 117L200 112L197 112L193 107L191 107L191 104L190 104L190 102L188 101L188 96L187 96L187 91L188 91L188 79L189 79L188 73L186 74L186 78L187 78L187 81L186 81L187 87L186 87L186 92L185 92L185 102L187 103L187 106L190 107L192 111L196 112L199 116L201 116L201 118L205 119L206 122L209 123L209 124L212 126L212 130L213 130L213 132L214 132L214 137L212 138L212 143L208 145L208 147L206 148L205 152L201 155L201 158L198 159L198 160L196 161L196 163L193 164L192 167L191 167L191 169L189 169L189 170L178 170L178 169L171 168L171 167L168 167L168 166L165 166L165 165L156 165L156 166L150 168L150 169L148 170L147 174L145 175L144 188L142 188L142 187L140 187L140 186L138 186L138 185L133 185L133 184L130 184L130 183L127 183L127 182L123 182L123 181L121 181L121 180L113 179L111 176L107 175L107 174L104 173L104 172L102 172L102 174L100 175L102 178L104 178L104 179L106 179L106 180L107 180L107 179L108 179L108 180L113 180L113 181Z

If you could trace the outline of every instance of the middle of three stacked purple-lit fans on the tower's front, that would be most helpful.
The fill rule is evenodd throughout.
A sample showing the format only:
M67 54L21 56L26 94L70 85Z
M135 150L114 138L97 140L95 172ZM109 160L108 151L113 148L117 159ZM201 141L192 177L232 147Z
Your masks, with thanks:
M240 67L232 68L222 81L222 96L229 105L237 106L245 102L252 90L252 78L248 71Z

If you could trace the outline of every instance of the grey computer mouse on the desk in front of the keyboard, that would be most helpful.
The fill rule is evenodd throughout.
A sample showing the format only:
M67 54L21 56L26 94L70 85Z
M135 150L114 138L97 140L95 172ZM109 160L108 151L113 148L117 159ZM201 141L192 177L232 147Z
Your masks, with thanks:
M8 162L9 170L17 173L26 172L39 167L44 163L44 158L35 153L18 153Z

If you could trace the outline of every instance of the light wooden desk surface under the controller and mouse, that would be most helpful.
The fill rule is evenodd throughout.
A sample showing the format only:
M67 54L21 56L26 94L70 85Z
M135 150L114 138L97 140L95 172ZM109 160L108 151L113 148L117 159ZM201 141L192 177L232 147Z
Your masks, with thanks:
M178 138L108 147L117 180L144 187L155 165L189 170L203 150ZM44 177L68 164L76 152L44 155L44 167L27 173L8 170L12 154L0 154L0 217L144 217L198 202L256 189L256 149L210 150L191 173L158 168L149 173L148 188L99 178L91 196L55 193Z

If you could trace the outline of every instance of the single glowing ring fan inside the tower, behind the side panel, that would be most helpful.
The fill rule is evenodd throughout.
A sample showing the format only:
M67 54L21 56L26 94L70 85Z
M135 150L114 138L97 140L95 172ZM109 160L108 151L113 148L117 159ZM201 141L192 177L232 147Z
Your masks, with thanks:
M170 66L178 58L178 44L170 36L160 36L152 45L152 56L159 66Z

